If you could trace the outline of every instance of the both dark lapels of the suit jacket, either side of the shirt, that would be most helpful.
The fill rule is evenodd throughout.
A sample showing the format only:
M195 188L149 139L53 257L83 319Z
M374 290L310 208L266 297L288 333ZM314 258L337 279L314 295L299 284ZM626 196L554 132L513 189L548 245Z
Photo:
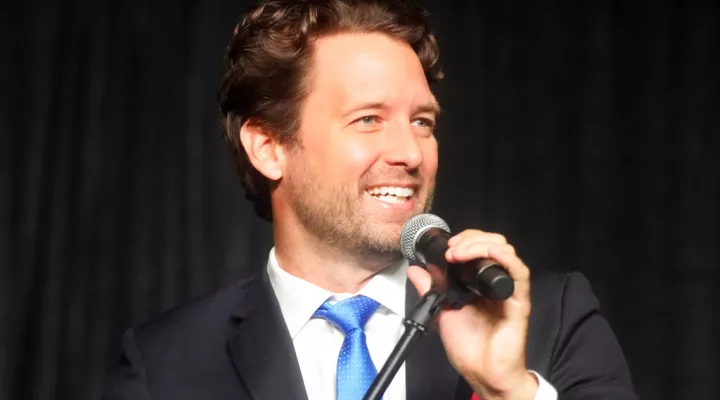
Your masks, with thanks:
M410 281L405 300L406 312L419 300ZM251 397L307 400L295 348L265 269L245 287L232 319L237 330L228 340L228 352ZM458 385L462 380L435 331L416 342L405 371L407 399L467 400L471 396L467 385Z

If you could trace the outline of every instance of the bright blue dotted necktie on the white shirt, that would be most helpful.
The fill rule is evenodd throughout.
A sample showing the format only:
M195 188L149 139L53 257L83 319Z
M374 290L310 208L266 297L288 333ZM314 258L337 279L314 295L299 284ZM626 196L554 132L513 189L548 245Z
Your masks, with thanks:
M338 355L337 400L361 400L377 375L365 340L365 324L380 303L358 295L335 303L327 301L313 317L324 318L344 335Z

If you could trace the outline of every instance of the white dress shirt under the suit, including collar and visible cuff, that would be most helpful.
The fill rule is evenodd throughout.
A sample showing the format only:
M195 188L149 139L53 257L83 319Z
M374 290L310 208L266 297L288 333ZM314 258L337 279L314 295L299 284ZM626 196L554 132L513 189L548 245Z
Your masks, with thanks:
M280 268L275 249L270 251L268 276L295 347L308 399L335 400L337 357L345 339L342 332L326 320L311 318L315 311L326 300L335 303L356 294L380 303L365 325L370 358L380 371L405 329L402 322L405 315L406 270L407 262L404 262L376 274L357 293L332 293ZM556 400L555 388L539 374L534 374L540 382L534 400ZM405 400L404 364L383 399Z

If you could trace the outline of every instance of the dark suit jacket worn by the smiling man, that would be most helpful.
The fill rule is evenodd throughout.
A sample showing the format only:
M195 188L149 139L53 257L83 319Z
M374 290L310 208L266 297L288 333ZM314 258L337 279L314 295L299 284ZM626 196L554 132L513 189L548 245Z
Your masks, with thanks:
M407 309L418 300L410 285ZM532 278L527 366L561 399L635 399L620 346L580 274ZM380 367L380 366L378 366ZM470 387L437 334L406 363L407 399L462 399ZM106 399L307 399L295 350L266 273L130 329Z

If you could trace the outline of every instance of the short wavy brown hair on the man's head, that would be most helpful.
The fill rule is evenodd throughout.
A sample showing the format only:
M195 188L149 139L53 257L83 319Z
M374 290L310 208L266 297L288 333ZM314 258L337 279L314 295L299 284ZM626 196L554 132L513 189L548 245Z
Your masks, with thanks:
M251 120L294 144L306 96L312 43L337 33L383 33L408 43L429 83L442 79L438 46L425 10L408 0L265 0L248 10L227 47L219 103L246 197L272 220L267 178L250 163L240 128Z

